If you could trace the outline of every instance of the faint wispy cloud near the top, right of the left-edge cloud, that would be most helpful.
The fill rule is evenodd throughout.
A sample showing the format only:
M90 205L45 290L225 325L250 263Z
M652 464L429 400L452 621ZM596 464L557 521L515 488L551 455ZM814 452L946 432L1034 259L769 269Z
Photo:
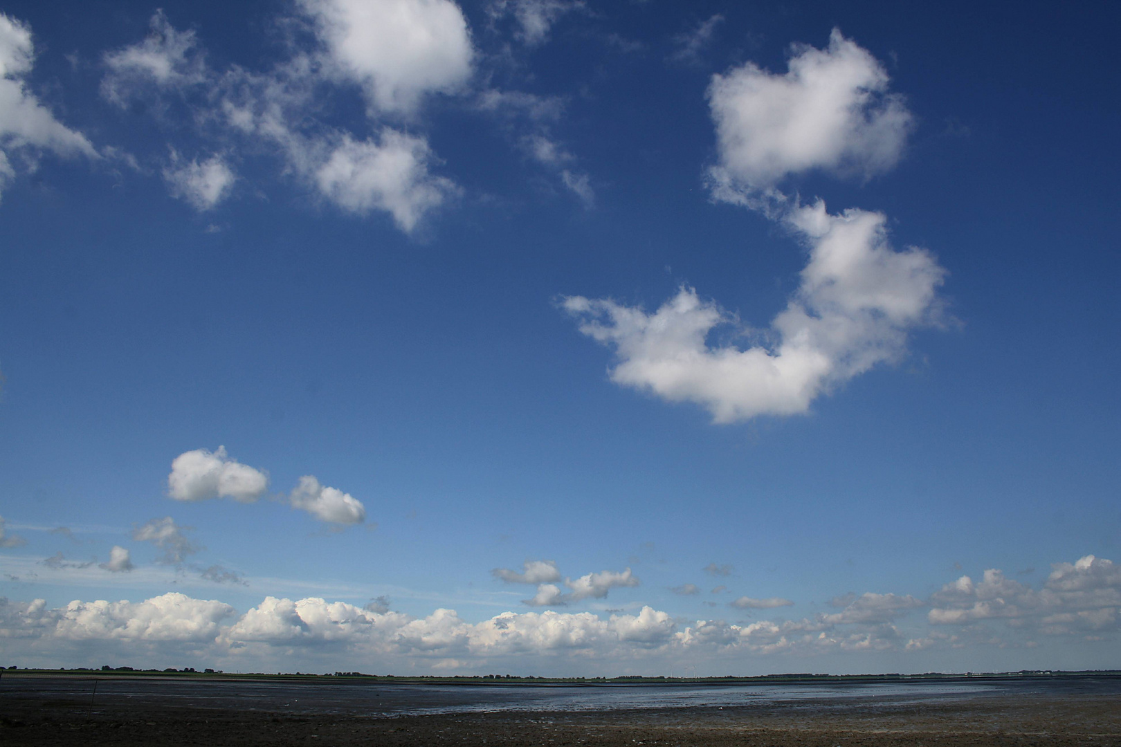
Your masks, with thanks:
M176 30L163 10L156 11L149 26L143 41L103 57L109 72L101 82L101 95L119 106L150 87L182 88L207 80L205 56L193 30Z

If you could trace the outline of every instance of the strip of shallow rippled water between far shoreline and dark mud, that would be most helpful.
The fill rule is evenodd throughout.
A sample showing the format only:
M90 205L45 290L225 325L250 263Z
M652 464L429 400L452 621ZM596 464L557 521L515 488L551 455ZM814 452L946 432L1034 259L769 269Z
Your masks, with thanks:
M483 712L603 712L732 709L789 704L815 710L1022 694L1121 694L1117 678L760 684L406 684L387 682L212 681L177 678L4 676L8 698L105 706L220 708L288 713L419 716Z

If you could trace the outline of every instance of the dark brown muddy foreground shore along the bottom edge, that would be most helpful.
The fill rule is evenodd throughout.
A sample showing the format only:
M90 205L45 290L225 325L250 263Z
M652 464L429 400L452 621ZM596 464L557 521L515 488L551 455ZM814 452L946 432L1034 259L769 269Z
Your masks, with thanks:
M3 745L1121 745L1117 693L798 700L731 708L356 716L0 698Z

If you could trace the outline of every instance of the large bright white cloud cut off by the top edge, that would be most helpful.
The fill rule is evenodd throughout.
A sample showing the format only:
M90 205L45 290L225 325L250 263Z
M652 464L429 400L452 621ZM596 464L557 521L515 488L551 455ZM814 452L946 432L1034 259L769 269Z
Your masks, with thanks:
M300 0L339 71L385 112L411 112L426 93L471 76L466 19L450 0Z

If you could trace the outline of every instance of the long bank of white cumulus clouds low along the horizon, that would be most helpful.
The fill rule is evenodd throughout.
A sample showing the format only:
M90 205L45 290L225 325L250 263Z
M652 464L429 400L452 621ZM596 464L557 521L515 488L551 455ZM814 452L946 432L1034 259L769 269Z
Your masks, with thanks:
M545 566L527 562L526 572L519 576L549 577L536 575ZM605 596L610 586L633 586L612 582L608 576L619 581L629 573L582 577L569 583L571 598L596 597L596 589ZM731 606L772 610L793 604L781 598L741 597ZM568 659L601 673L623 663L667 667L688 661L704 666L706 673L720 674L734 653L907 654L979 641L1030 650L1048 637L1110 635L1119 627L1121 567L1086 555L1074 563L1055 563L1039 589L990 569L981 581L963 576L925 600L865 592L832 604L839 611L753 623L685 622L649 606L637 614L614 613L606 618L586 611L506 611L470 623L452 609L439 608L418 618L385 604L363 608L318 597L270 596L239 614L229 604L173 591L140 603L74 600L55 609L43 599L29 604L2 600L0 632L25 644L17 656L22 665L142 655L160 662L206 661L271 670L275 656L285 652L288 661L311 661L321 669L332 656L345 654L355 665L376 670L479 672L497 664L525 666ZM916 622L908 616L923 609L925 620L920 618L921 629L915 633Z

